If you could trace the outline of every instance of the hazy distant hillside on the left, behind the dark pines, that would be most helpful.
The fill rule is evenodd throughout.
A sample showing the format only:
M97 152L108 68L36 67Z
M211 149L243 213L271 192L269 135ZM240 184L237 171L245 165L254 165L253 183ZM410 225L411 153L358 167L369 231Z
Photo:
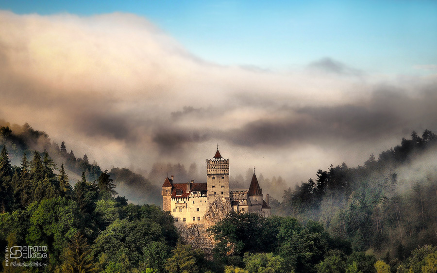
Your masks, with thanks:
M76 157L73 150L68 152L66 143L58 145L52 142L46 132L35 130L27 123L20 126L0 120L0 147L3 145L9 151L12 165L16 166L20 165L23 154L26 154L27 158L32 158L33 151L47 151L56 164L56 169L64 163L70 185L76 184L82 173L85 173L86 179L91 182L96 181L102 173L96 162L89 162L86 153L82 157ZM126 168L114 168L109 175L114 179L120 196L127 197L135 204L162 205L160 188L152 185L147 178Z

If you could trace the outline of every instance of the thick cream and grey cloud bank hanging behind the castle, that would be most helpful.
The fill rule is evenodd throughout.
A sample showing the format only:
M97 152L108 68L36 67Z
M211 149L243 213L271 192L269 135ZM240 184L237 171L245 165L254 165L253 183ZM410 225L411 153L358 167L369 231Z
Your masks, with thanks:
M235 176L256 164L295 182L331 163L362 164L413 129L437 131L433 79L369 75L331 58L292 71L212 64L130 14L0 12L0 25L1 118L103 169L202 166L220 143Z

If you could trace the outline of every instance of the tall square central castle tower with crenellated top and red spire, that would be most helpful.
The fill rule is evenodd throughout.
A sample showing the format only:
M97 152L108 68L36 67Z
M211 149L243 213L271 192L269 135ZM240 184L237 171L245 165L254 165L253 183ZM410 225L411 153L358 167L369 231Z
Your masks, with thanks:
M206 160L207 202L216 198L229 199L229 159L224 159L218 151L214 159Z

